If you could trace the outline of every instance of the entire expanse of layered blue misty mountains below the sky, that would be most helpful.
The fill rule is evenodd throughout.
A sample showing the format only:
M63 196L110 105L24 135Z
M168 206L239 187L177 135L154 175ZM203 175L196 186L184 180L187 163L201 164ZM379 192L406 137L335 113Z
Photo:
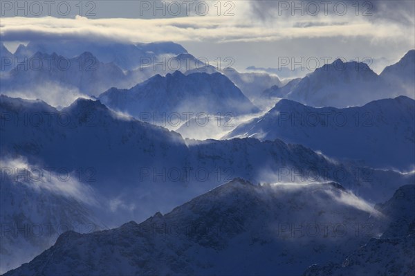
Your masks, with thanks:
M295 79L173 42L0 57L0 273L415 275L415 50Z

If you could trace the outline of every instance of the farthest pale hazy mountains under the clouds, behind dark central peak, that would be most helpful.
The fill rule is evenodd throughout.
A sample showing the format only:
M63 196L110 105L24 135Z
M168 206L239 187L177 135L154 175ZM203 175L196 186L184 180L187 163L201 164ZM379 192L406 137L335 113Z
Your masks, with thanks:
M27 70L24 66L19 65L9 73L1 75L3 83L1 93L17 97L28 93L33 98L44 98L42 88L46 87L46 89L54 91L52 98L56 100L51 102L53 105L66 105L76 96L97 96L111 87L131 89L154 75L167 76L175 71L181 71L185 75L220 72L228 77L262 111L268 111L272 108L279 98L295 100L312 107L337 108L361 106L371 100L395 98L398 95L415 98L413 89L415 50L409 50L400 61L387 66L380 75L374 73L363 62L342 62L341 59L336 59L333 63L325 64L301 79L282 82L277 75L266 72L238 72L234 68L216 68L212 64L203 62L203 59L190 55L178 44L105 44L102 46L82 44L73 46L71 42L67 42L63 45L65 47L61 47L62 50L59 53L65 55L59 56L55 54L56 52L50 52L55 49L54 44L47 46L36 43L29 43L27 46L21 45L15 54L11 54L1 44L2 52L6 56L13 55L20 59L27 58L30 61L36 61L39 58L64 58L70 60L71 64L75 64L68 70L60 70L60 68L55 68L56 64L52 62L53 68L47 71L43 70L46 66L43 66L42 70L33 70L33 68ZM120 48L122 51L119 51ZM81 49L89 49L90 51L85 53ZM118 55L122 53L122 57L113 53L118 53ZM127 55L129 56L127 57ZM86 57L86 61L84 57ZM134 65L126 64L131 62ZM82 69L80 70L79 67ZM86 71L86 68L93 68L93 71ZM73 77L73 75L77 77ZM72 96L63 95L63 98L69 99L64 103L55 104L62 94L68 94L64 93L67 90L71 91ZM185 92L184 94L186 94ZM146 100L151 101L152 99L150 97ZM192 102L194 98L186 100ZM160 110L159 112L163 113L164 111Z

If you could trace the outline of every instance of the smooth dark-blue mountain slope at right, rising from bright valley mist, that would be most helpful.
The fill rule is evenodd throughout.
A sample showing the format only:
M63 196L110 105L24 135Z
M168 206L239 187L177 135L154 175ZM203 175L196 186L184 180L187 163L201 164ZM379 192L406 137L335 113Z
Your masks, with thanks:
M278 138L333 158L361 160L370 167L412 171L414 125L415 101L405 96L346 109L317 109L280 100L264 116L239 125L225 138Z

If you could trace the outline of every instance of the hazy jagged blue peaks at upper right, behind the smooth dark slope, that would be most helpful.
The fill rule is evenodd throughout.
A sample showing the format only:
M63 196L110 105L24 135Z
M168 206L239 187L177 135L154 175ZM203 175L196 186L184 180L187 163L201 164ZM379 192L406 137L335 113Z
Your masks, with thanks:
M281 88L271 89L266 94L274 93L281 96L279 98L312 107L338 108L359 106L372 100L399 95L414 98L414 53L415 50L409 50L398 63L387 66L380 75L376 75L365 63L336 59L309 73L297 84L288 83L290 85L286 88L277 85Z

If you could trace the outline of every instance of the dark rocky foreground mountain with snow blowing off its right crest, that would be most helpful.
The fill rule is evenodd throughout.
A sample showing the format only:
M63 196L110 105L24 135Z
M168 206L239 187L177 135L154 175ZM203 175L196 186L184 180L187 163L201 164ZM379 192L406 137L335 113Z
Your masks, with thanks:
M62 234L10 275L300 275L378 234L382 214L336 183L255 186L241 179L137 224ZM340 230L341 228L341 230Z

